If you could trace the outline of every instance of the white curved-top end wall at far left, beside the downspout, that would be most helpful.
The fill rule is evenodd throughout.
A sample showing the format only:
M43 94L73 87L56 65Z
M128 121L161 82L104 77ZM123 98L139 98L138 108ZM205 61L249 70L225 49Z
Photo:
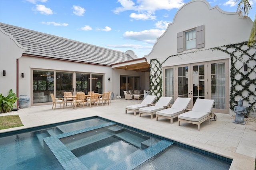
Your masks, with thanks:
M10 89L16 92L16 59L21 57L26 48L18 44L12 35L0 27L0 93L7 96ZM6 76L3 76L3 70ZM21 75L20 75L21 77Z

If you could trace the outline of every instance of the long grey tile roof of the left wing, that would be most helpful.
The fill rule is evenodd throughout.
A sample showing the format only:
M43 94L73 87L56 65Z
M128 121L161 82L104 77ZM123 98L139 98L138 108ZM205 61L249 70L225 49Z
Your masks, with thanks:
M79 61L92 64L111 65L124 61L133 60L128 53L115 51L0 23L0 27L7 33L10 33L20 45L27 47L24 54L49 57L54 59L64 59L68 61Z

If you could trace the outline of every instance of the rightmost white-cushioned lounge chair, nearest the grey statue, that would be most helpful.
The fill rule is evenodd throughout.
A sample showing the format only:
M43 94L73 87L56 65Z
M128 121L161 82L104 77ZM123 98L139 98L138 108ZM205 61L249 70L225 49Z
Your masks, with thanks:
M198 131L200 131L200 124L212 116L213 105L214 100L196 99L191 111L178 115L178 125L180 126L181 121L192 123L198 125ZM214 115L214 119L216 120L216 115Z

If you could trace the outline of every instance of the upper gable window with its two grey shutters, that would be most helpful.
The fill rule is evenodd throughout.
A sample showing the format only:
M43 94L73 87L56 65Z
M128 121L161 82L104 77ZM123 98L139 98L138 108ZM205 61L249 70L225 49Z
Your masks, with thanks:
M204 47L204 25L177 33L177 52Z

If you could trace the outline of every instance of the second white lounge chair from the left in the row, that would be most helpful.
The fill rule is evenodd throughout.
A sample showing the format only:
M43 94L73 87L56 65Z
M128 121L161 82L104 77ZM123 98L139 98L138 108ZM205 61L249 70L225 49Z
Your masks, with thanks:
M154 106L140 108L140 117L141 114L148 114L150 115L150 119L153 119L153 115L156 114L156 111L165 109L167 106L170 105L172 100L172 97L161 97Z

